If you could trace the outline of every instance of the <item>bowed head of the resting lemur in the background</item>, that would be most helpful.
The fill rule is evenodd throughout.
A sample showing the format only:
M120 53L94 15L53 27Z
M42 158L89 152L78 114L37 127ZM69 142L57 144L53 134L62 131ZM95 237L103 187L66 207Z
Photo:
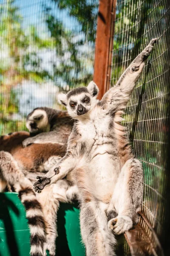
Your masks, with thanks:
M26 127L32 134L50 131L47 113L42 109L32 111L26 118Z

